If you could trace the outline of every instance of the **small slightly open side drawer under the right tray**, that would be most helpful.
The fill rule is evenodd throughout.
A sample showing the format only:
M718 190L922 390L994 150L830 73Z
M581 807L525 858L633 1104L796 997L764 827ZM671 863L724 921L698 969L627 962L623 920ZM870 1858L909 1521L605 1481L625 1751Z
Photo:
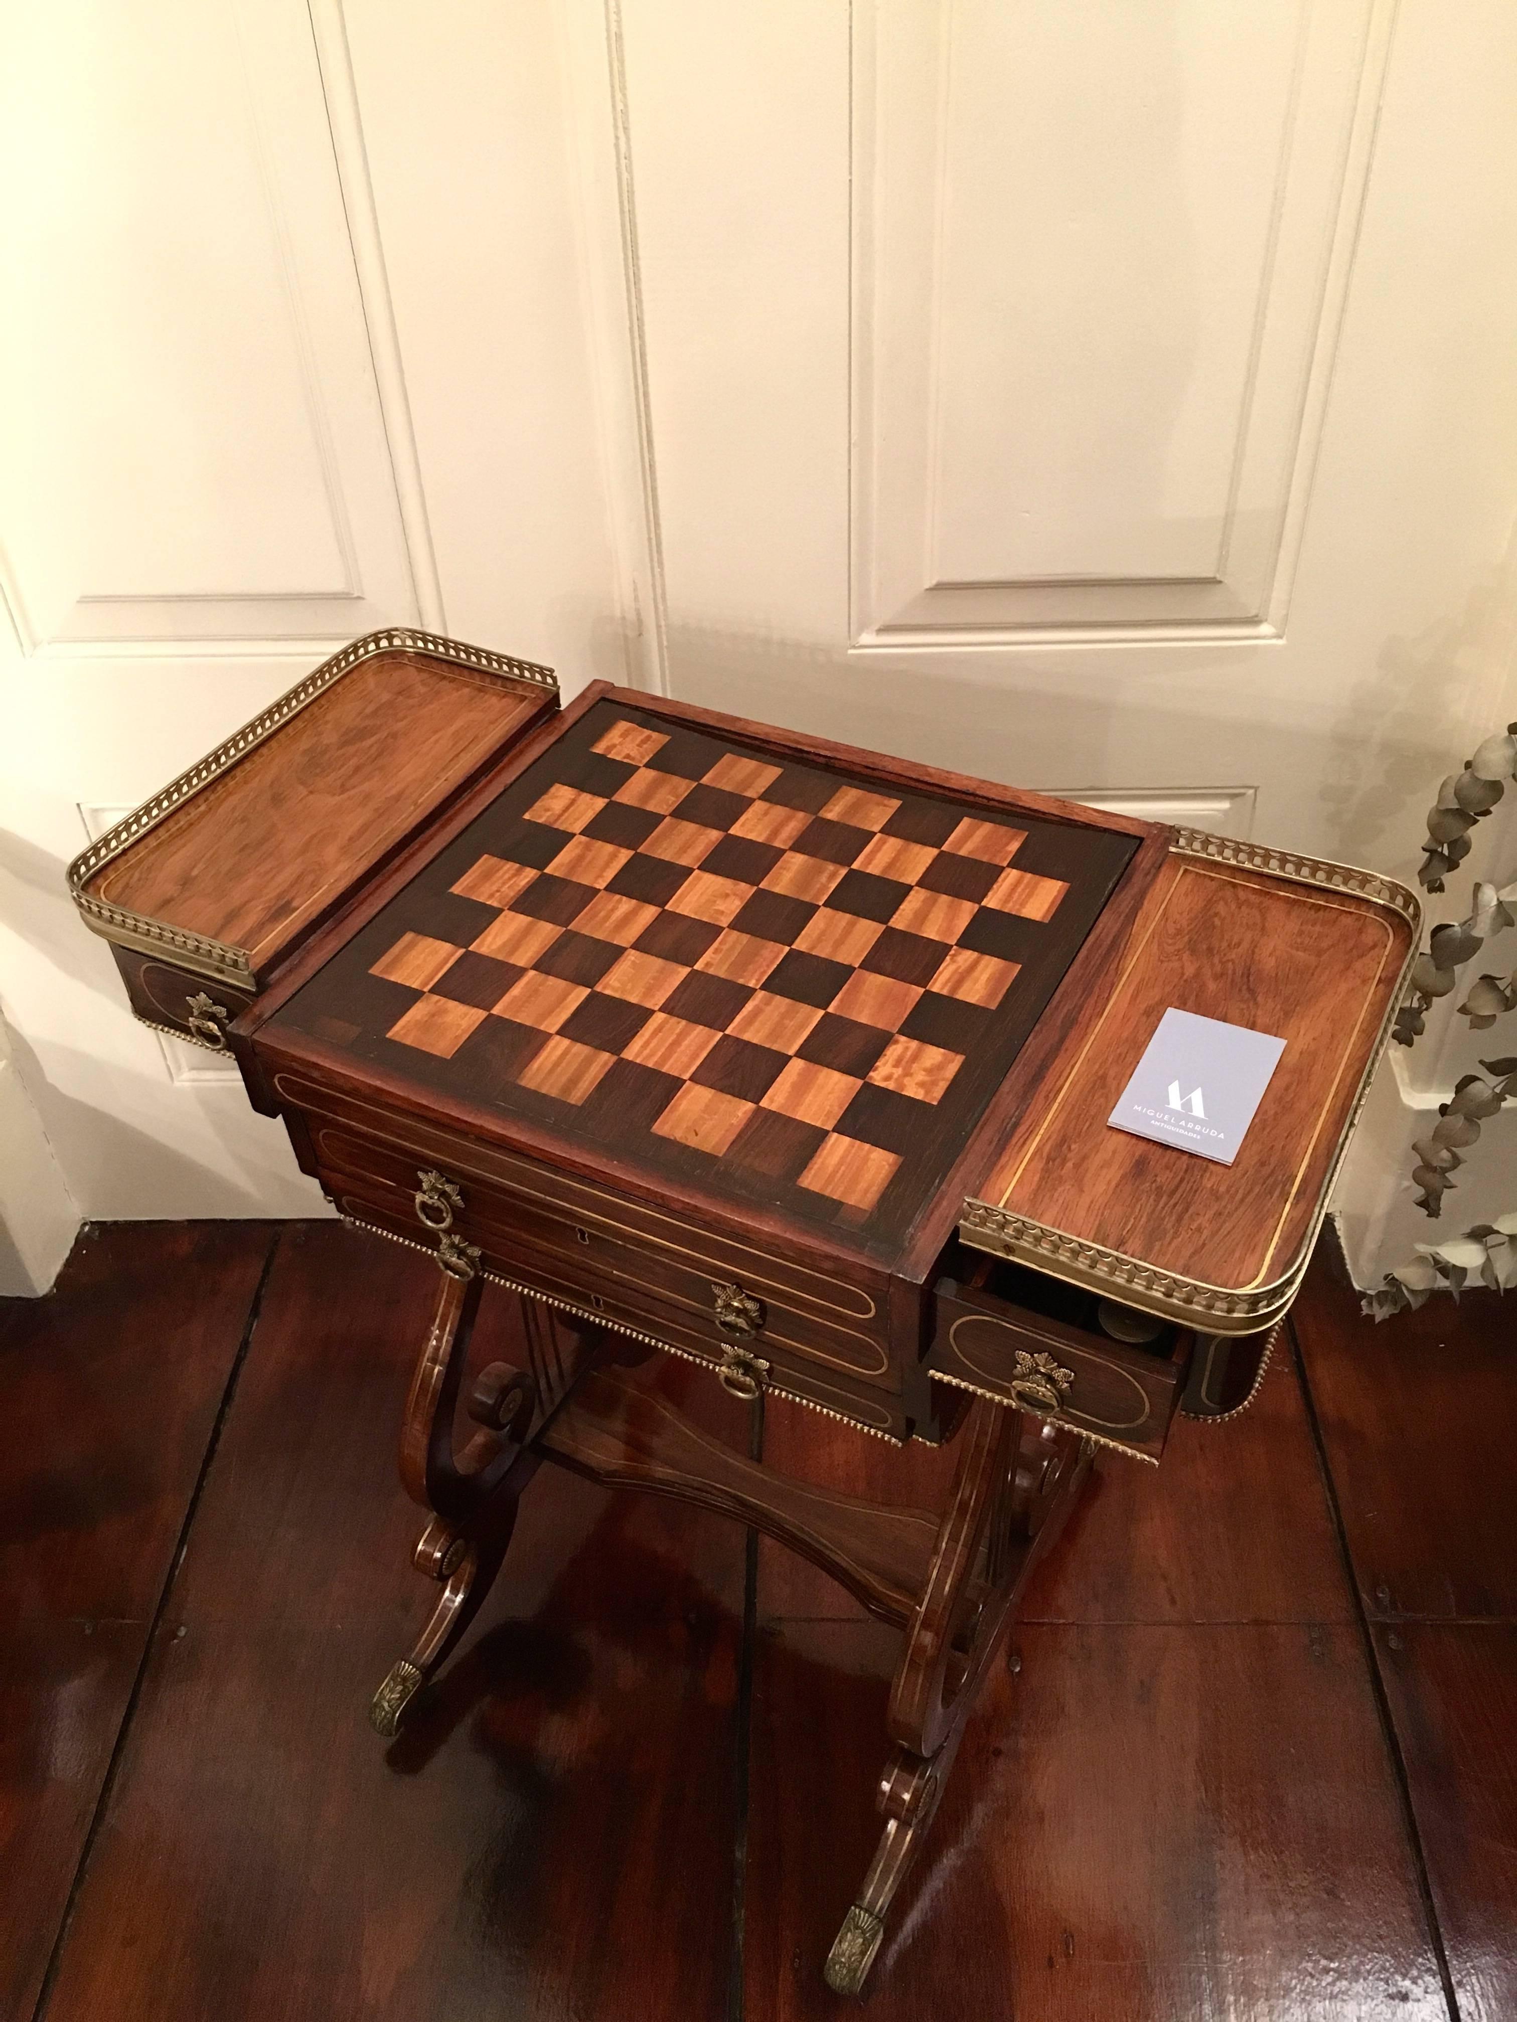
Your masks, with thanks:
M967 1272L934 1286L932 1375L1159 1460L1195 1345L1189 1328L1015 1264L979 1258Z

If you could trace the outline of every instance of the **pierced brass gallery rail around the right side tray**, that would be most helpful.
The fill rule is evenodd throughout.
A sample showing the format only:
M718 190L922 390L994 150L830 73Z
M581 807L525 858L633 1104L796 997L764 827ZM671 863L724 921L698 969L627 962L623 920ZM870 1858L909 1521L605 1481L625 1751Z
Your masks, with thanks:
M1369 1047L1363 1072L1359 1074L1359 1086L1349 1104L1337 1153L1327 1167L1321 1193L1317 1195L1317 1207L1311 1217L1315 1229L1327 1209L1343 1155L1353 1136L1353 1126L1369 1094L1369 1080L1379 1066L1396 1011L1406 995L1406 979L1418 958L1422 902L1408 886L1398 884L1394 878L1381 878L1377 871L1361 871L1351 863L1333 863L1329 857L1305 857L1284 849L1266 849L1260 843L1242 843L1230 835L1212 835L1206 829L1175 829L1169 853L1210 863L1232 863L1238 869L1268 871L1274 878L1288 878L1295 884L1367 898L1371 904L1388 906L1412 926L1402 975L1386 1001L1375 1041ZM1301 1290L1301 1280L1307 1276L1307 1266L1311 1264L1311 1244L1307 1244L1303 1246L1301 1260L1284 1278L1276 1278L1274 1284L1252 1290L1228 1290L1226 1286L1208 1284L1203 1278L1185 1278L1181 1272L1167 1272L1157 1264L1145 1264L1141 1258L1127 1256L1121 1250L1106 1250L1104 1244L1086 1242L1064 1229L1032 1221L1028 1215L1013 1215L1009 1209L997 1207L993 1201L975 1199L973 1195L965 1197L959 1215L959 1233L977 1250L989 1250L991 1256L1007 1258L1013 1264L1028 1264L1032 1270L1048 1272L1052 1278L1062 1278L1066 1284L1078 1284L1088 1290L1119 1290L1129 1304L1141 1306L1145 1312L1214 1335L1258 1335L1270 1324L1278 1326ZM1210 1324L1201 1326L1197 1316L1203 1316Z

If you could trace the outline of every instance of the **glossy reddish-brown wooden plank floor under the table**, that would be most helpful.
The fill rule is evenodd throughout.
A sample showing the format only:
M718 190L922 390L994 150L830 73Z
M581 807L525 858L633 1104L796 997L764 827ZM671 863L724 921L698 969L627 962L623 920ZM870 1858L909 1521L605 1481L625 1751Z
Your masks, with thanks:
M542 1470L415 1727L370 1733L435 1591L392 1452L433 1276L336 1223L111 1225L0 1304L0 2016L841 2010L896 1638L799 1561ZM1252 1411L1104 1460L876 2022L1517 2014L1511 1314L1373 1330L1319 1258ZM496 1294L479 1353L514 1326ZM945 1456L783 1403L767 1452L943 1494Z

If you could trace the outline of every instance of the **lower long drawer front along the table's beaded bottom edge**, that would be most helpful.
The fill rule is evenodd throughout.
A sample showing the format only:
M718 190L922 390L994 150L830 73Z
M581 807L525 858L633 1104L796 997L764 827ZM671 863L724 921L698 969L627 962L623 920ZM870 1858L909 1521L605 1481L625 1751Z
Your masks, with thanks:
M400 1197L398 1189L340 1171L324 1171L322 1185L350 1221L431 1248L431 1237L417 1221L411 1199ZM712 1375L722 1369L728 1343L716 1330L710 1296L704 1306L682 1300L651 1282L639 1282L631 1270L623 1272L607 1268L605 1260L591 1260L583 1246L576 1246L576 1254L568 1256L562 1246L556 1250L540 1248L524 1231L500 1231L487 1221L465 1225L463 1217L455 1217L453 1231L479 1250L481 1270L496 1278L526 1286L530 1292L591 1318L603 1318L611 1326L651 1335L663 1347L704 1363ZM876 1385L843 1371L821 1369L783 1343L769 1341L767 1335L752 1337L748 1347L767 1365L763 1377L767 1389L799 1397L886 1438L906 1438L908 1428L900 1401Z

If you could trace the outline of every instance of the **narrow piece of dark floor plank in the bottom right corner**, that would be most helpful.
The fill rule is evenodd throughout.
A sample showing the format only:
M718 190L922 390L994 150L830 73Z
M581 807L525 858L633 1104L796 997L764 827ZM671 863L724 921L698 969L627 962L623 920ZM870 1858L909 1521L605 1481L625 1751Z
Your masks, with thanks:
M1375 1630L1460 2022L1517 2014L1517 1628Z

